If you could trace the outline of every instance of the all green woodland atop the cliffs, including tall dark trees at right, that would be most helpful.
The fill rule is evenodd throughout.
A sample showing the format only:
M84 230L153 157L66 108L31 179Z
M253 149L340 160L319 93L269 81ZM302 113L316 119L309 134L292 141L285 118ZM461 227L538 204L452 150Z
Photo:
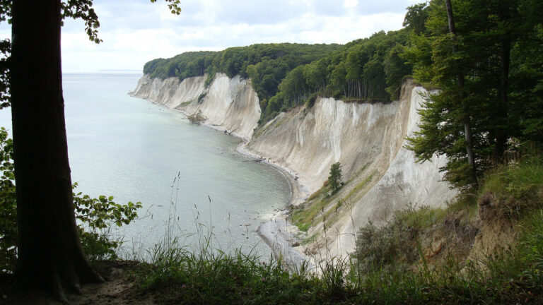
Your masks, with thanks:
M421 161L447 155L446 179L477 184L503 152L542 143L543 14L540 1L445 0L407 8L402 30L338 44L253 44L221 52L187 52L155 59L151 77L216 72L252 79L261 123L317 96L345 101L390 101L414 75L427 88L421 130L409 148ZM449 20L453 27L449 27Z

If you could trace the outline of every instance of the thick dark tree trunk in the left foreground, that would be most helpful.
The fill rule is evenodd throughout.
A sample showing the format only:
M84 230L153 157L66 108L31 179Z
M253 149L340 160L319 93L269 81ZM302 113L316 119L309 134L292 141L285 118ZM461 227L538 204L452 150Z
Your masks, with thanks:
M64 125L60 0L13 1L11 112L19 229L16 289L102 280L76 230Z

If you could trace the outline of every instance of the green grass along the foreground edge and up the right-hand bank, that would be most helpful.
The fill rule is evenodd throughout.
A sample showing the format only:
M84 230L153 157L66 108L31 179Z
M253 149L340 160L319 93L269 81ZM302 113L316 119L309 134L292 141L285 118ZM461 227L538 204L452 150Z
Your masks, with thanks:
M367 253L378 263L363 265L365 258L361 256L333 258L319 263L315 272L301 268L288 273L281 268L281 261L241 251L232 255L199 251L194 255L165 246L156 249L153 261L142 265L135 278L141 291L152 293L162 304L541 304L541 200L525 205L525 213L517 215L520 239L516 246L477 263L450 254L441 263L428 263L414 238L442 224L451 214L474 218L477 198L503 191L503 185L522 181L522 188L529 191L515 189L501 194L534 200L537 196L530 194L541 189L537 173L543 167L532 165L530 161L518 169L496 169L494 174L506 175L506 179L495 181L489 176L480 193L463 196L446 208L411 207L397 213L385 227L368 225L365 229L371 241L359 242L370 244ZM532 171L530 179L525 179L527 170ZM313 209L318 213L319 208Z

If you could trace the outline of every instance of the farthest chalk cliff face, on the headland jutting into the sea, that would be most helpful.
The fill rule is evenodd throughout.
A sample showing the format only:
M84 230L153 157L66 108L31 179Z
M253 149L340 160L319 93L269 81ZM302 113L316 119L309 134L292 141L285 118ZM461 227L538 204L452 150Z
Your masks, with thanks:
M217 73L208 88L206 76L185 78L142 77L130 94L186 114L202 114L206 124L249 140L257 128L260 106L255 90L240 76Z

